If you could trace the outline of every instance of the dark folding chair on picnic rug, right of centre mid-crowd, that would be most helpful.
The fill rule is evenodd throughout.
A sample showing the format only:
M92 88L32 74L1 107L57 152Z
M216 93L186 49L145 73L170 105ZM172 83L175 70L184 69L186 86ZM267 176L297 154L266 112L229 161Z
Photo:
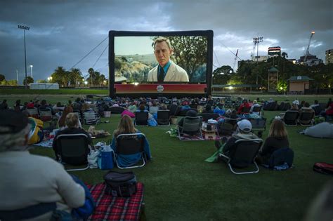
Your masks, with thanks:
M181 139L181 135L184 133L200 133L201 140L204 140L202 137L202 116L184 116L183 126L178 126L178 138Z

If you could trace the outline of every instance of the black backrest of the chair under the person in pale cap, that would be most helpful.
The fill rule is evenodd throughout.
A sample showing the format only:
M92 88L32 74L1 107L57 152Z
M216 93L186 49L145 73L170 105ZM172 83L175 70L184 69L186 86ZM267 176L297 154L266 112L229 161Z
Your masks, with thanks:
M236 140L235 148L230 149L230 164L237 168L245 168L254 162L256 154L263 143L261 139Z

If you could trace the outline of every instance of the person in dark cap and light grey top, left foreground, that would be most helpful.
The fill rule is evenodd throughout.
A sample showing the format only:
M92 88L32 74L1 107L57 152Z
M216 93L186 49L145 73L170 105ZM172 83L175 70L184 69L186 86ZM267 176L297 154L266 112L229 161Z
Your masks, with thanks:
M67 213L83 206L84 188L74 182L63 165L49 157L30 154L29 131L27 116L0 111L0 217L8 213L27 217L34 211L39 214L25 220L50 220L53 211L42 213L39 206L56 203L56 210Z

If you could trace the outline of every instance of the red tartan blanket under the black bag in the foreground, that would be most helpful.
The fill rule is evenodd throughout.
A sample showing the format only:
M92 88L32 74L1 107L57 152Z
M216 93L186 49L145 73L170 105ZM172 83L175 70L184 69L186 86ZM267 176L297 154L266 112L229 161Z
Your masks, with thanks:
M104 183L88 185L96 202L95 211L88 220L139 220L143 203L143 183L138 182L136 187L136 194L124 198L104 194Z

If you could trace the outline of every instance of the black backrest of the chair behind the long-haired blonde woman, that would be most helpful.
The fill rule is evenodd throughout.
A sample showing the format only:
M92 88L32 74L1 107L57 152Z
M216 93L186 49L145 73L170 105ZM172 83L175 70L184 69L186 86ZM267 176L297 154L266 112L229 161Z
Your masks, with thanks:
M129 155L143 152L143 133L119 134L116 138L116 154Z

